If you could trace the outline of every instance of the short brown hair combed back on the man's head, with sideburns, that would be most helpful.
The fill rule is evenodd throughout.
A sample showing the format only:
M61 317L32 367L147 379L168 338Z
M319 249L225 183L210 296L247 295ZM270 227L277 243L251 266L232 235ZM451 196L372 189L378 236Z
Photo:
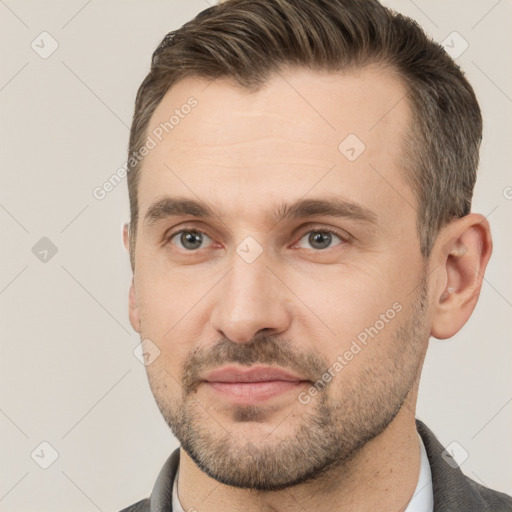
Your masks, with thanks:
M153 53L135 102L129 154L144 143L165 93L185 77L228 77L257 91L272 72L381 64L398 72L412 109L405 176L418 201L422 255L439 229L470 212L482 117L471 85L441 45L377 0L227 0L169 32ZM141 162L128 166L134 266Z

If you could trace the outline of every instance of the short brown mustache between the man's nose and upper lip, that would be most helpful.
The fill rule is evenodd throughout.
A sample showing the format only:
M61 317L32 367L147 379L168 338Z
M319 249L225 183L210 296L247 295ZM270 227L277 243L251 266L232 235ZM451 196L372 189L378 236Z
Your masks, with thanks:
M279 366L313 382L320 379L329 367L318 353L298 351L297 345L289 339L262 336L247 343L237 343L221 338L208 349L197 347L186 359L182 379L185 394L197 389L205 372L234 363L242 366Z

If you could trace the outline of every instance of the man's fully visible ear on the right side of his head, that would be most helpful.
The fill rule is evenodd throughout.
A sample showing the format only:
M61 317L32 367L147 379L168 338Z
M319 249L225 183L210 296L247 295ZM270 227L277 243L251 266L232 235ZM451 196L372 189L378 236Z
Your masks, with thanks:
M491 230L483 215L471 213L443 228L432 250L432 263L441 269L434 286L432 336L450 338L468 321L491 253Z

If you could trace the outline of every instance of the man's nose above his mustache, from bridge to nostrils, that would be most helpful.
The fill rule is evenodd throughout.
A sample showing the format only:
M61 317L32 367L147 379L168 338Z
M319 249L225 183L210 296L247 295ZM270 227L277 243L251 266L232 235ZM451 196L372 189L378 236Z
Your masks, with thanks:
M291 292L274 272L263 255L252 263L233 255L231 270L216 287L211 315L212 327L221 336L246 343L258 335L276 336L289 328Z

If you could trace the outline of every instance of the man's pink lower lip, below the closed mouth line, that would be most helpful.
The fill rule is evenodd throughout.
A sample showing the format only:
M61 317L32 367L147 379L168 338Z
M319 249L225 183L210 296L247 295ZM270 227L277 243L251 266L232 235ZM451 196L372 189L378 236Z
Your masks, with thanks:
M297 390L307 381L268 380L264 382L205 382L208 387L237 403L262 402Z

